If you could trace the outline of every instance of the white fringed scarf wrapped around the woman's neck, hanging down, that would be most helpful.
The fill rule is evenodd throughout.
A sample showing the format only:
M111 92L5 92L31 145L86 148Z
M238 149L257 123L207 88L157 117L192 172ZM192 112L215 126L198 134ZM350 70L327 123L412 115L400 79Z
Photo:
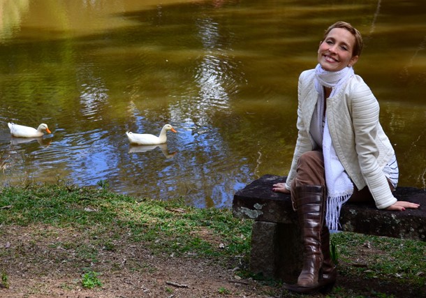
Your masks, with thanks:
M318 105L324 104L324 88L332 88L330 97L334 96L341 86L353 75L352 67L345 67L342 70L331 72L323 70L320 64L315 68L315 88L318 91ZM323 107L317 108L323 113ZM323 115L318 115L318 119L323 119ZM322 122L322 121L321 121ZM320 124L322 125L322 124ZM353 183L346 174L343 165L337 157L335 147L332 144L328 121L325 116L325 126L323 131L323 156L325 167L325 184L327 185L327 208L325 222L330 230L339 229L339 216L341 206L346 203L353 194Z

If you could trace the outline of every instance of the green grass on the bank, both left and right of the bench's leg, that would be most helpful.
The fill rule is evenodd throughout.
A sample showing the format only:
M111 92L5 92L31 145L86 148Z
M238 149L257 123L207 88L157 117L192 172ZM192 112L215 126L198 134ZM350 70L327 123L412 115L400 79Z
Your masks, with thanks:
M39 246L45 239L53 239L45 245L51 250L49 260L66 262L81 272L89 263L96 267L105 252L115 253L131 242L142 244L153 255L191 256L226 268L239 267L235 274L272 287L268 295L281 293L281 281L248 270L252 221L234 218L229 209L198 209L186 206L183 200L133 198L106 188L105 184L79 188L61 183L0 188L0 237L7 227L36 227L24 246L0 250L0 258L26 258L31 253L31 262L43 262L47 256ZM58 234L64 232L69 237ZM425 242L340 232L332 234L332 247L341 276L425 288ZM154 270L142 262L127 262L132 271ZM113 271L120 269L116 262L109 266ZM102 272L93 271L94 267L82 275L85 288L102 286L98 278ZM1 265L0 271L6 287L7 271ZM218 292L228 295L226 288ZM376 290L367 289L367 293L363 296L365 291L359 294L336 287L330 297L391 297Z

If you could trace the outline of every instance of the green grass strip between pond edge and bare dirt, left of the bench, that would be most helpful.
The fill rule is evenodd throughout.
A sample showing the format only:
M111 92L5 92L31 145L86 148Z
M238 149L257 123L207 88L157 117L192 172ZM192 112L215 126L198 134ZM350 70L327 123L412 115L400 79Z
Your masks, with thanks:
M197 209L181 201L162 202L117 195L104 188L69 185L31 185L1 189L0 222L3 225L52 225L87 229L92 237L127 230L132 241L143 241L154 252L193 253L200 257L244 255L249 250L251 223L233 218L226 209ZM43 232L43 231L42 231ZM212 239L214 240L212 243ZM96 259L96 251L114 250L110 239L95 246L74 242L50 244L74 248L82 258ZM164 244L168 244L165 246Z

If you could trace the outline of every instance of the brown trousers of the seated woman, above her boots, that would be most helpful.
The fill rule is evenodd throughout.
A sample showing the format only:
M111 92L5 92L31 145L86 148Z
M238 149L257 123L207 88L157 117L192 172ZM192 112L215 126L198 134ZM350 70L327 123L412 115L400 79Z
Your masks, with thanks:
M295 202L293 194L296 193L296 186L325 186L323 152L308 151L302 154L299 158L298 169L296 170L296 172L296 177L291 183L291 194L293 202ZM394 190L392 189L392 191ZM353 195L351 195L351 198L349 198L349 202L368 202L371 200L374 199L367 186L365 186L365 188L362 188L361 190L358 190L355 185L353 186Z

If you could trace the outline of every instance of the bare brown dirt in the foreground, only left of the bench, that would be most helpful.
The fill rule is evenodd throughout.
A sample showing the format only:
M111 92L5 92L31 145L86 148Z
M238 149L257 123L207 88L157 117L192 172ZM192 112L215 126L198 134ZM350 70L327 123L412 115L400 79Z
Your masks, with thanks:
M226 269L210 260L191 255L152 255L135 244L121 246L117 251L104 251L93 264L76 260L72 251L46 243L31 244L2 239L13 251L3 259L9 288L0 289L0 297L267 297L260 295L264 286L255 281L237 279L233 269ZM4 242L6 240L6 242ZM10 241L7 241L10 240ZM50 239L54 240L54 239ZM12 243L15 243L13 246ZM81 267L101 272L101 288L82 287Z

